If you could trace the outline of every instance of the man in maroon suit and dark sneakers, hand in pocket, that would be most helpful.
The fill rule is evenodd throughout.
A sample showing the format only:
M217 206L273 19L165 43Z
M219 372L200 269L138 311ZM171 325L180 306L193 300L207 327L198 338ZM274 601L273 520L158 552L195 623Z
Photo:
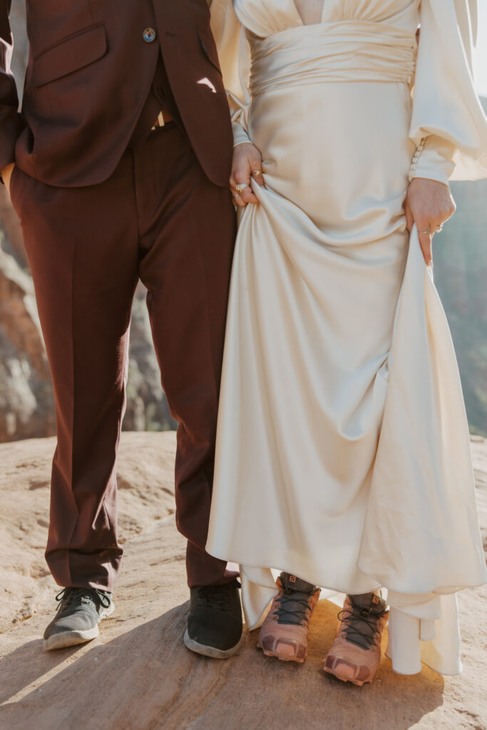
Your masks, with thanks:
M64 590L45 648L113 610L115 465L138 280L179 422L188 538L185 643L231 656L236 574L204 551L234 244L229 110L206 0L27 0L18 113L11 0L0 0L0 169L18 212L53 377L58 447L46 558Z

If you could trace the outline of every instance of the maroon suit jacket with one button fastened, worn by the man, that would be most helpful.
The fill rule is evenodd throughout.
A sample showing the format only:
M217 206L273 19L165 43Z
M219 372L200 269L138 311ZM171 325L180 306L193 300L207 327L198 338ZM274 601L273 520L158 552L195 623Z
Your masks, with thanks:
M228 185L231 125L206 0L26 0L22 113L9 72L11 0L0 0L0 169L49 185L101 183L120 161L162 51L207 176ZM147 42L156 31L156 39ZM201 83L202 80L207 80Z

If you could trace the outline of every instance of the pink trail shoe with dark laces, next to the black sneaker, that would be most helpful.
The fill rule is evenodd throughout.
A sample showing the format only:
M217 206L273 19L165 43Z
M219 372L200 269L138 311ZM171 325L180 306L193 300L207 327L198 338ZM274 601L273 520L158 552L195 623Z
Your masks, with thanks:
M302 663L306 658L310 618L320 589L289 573L280 574L277 588L279 593L261 626L257 646L266 656Z

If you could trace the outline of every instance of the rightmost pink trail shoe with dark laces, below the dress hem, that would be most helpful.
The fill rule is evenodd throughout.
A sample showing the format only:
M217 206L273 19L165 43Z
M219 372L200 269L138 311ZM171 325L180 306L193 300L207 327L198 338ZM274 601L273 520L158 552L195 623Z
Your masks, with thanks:
M380 642L387 623L386 601L375 593L347 596L323 669L343 682L372 682L380 664Z

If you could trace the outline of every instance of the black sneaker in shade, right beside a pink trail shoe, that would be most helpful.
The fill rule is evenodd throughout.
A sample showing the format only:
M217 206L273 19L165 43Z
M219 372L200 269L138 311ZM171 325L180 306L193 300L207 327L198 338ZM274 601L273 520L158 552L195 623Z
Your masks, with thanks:
M196 585L191 588L191 607L184 642L197 654L228 659L242 638L240 584Z

